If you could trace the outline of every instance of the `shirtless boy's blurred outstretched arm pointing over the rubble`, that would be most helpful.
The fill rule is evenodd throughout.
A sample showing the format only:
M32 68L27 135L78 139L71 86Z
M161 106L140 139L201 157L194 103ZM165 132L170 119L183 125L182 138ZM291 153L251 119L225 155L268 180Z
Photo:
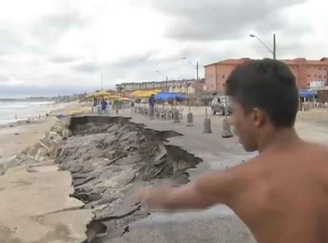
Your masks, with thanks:
M201 209L218 203L229 205L233 193L243 187L239 177L242 169L238 167L209 172L179 188L140 188L136 197L158 209Z

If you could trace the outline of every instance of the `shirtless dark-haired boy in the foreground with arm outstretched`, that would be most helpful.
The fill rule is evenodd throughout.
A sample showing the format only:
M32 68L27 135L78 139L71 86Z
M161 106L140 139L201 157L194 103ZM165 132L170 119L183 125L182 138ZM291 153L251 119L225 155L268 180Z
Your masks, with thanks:
M141 188L137 198L162 209L226 204L258 242L328 242L328 149L295 131L298 88L289 67L250 61L232 71L226 93L240 143L259 155L180 188Z

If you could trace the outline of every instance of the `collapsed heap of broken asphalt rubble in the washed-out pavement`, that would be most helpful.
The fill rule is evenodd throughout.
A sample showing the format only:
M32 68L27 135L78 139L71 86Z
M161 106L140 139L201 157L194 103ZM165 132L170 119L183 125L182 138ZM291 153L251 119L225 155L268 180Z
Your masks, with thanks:
M85 208L95 210L86 242L103 228L94 222L103 222L110 234L149 215L148 209L134 199L136 184L160 180L188 183L185 171L201 161L166 144L169 137L181 134L147 129L128 118L72 117L69 128L72 136L58 147L56 163L60 170L72 174L71 196L85 202Z

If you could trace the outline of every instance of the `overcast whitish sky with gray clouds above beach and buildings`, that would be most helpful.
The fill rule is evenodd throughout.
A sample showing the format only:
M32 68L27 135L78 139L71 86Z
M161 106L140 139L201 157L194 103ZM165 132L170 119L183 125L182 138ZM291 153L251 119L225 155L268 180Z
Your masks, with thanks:
M11 0L0 6L0 96L194 78L191 62L328 56L326 0Z

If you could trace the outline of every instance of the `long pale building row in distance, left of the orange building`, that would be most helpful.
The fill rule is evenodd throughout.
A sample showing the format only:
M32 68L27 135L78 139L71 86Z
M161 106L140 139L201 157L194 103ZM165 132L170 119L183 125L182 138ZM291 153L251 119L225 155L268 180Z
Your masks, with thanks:
M203 83L204 79L200 79L199 83ZM116 90L134 91L134 90L167 90L167 91L187 91L189 86L194 86L196 79L168 80L168 81L152 81L141 83L122 83L116 85ZM180 92L179 92L180 93Z

